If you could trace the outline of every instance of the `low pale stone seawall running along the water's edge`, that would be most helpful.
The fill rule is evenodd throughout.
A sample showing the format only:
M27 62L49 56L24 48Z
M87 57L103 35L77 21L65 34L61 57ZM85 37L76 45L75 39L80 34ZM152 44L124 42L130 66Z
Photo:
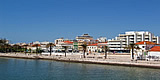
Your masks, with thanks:
M36 56L36 55L16 55L16 54L0 54L0 57L8 58L21 58L21 59L41 59L41 60L54 60L62 62L75 62L75 63L87 63L87 64L102 64L102 65L116 65L116 66L128 66L128 67L143 67L160 69L160 62L133 62L133 61L111 61L109 59L88 59L88 58L68 58L57 56Z

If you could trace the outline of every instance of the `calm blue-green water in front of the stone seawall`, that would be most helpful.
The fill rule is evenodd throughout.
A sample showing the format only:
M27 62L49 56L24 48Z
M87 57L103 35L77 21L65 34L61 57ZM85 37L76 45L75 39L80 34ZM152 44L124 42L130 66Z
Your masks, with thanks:
M160 80L160 69L0 58L0 80Z

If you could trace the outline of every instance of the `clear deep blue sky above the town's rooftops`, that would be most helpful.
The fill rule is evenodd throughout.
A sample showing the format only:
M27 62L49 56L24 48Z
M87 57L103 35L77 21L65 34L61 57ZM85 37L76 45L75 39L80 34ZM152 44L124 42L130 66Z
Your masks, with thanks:
M0 38L12 43L114 38L125 31L160 36L160 0L0 0Z

